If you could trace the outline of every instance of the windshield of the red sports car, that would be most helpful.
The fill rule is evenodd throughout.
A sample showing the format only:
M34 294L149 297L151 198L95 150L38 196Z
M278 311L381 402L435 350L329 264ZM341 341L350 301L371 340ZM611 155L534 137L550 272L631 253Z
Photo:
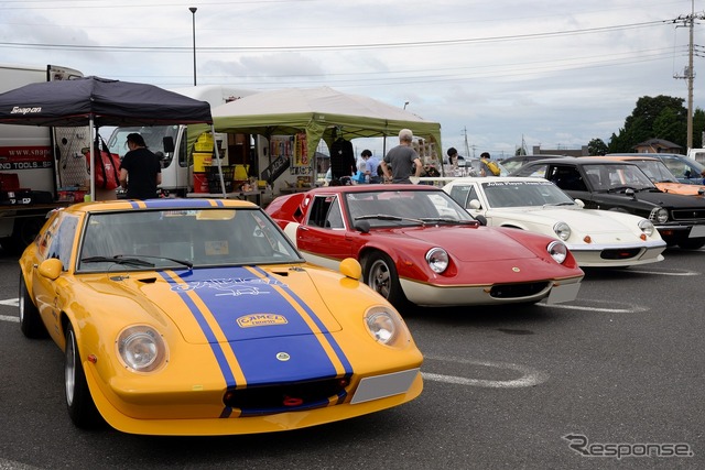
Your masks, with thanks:
M442 190L347 193L345 200L352 222L368 220L370 227L475 222Z

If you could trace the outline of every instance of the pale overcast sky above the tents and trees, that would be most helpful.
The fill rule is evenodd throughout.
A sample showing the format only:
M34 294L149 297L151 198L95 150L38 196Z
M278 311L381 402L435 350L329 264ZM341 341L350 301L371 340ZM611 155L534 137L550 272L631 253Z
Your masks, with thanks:
M705 1L695 1L695 14ZM196 7L195 17L188 10ZM164 88L329 86L442 127L443 153L609 141L643 96L687 106L692 1L0 1L0 62ZM676 28L679 26L679 28ZM694 107L705 108L695 23ZM701 130L694 130L699 132ZM373 149L381 154L379 149Z

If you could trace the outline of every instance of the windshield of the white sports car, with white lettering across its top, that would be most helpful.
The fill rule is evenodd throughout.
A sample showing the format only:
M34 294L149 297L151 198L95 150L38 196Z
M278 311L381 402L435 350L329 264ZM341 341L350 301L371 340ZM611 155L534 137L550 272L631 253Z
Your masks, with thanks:
M490 208L525 206L575 206L567 194L551 182L492 182L482 183Z

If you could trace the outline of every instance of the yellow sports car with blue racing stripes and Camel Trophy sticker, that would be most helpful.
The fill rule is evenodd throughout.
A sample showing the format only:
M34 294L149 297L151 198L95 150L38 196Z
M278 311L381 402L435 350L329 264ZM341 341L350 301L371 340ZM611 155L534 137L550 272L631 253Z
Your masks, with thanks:
M65 352L78 427L296 429L423 387L421 352L358 262L307 264L247 201L77 204L51 214L20 265L21 329Z

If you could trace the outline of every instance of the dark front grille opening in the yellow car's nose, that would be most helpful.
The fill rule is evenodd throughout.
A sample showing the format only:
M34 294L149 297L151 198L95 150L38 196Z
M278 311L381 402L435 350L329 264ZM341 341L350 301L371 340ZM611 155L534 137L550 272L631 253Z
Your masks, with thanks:
M285 409L303 409L325 406L330 398L343 400L349 379L326 379L229 390L223 402L239 408L243 414L281 413Z

